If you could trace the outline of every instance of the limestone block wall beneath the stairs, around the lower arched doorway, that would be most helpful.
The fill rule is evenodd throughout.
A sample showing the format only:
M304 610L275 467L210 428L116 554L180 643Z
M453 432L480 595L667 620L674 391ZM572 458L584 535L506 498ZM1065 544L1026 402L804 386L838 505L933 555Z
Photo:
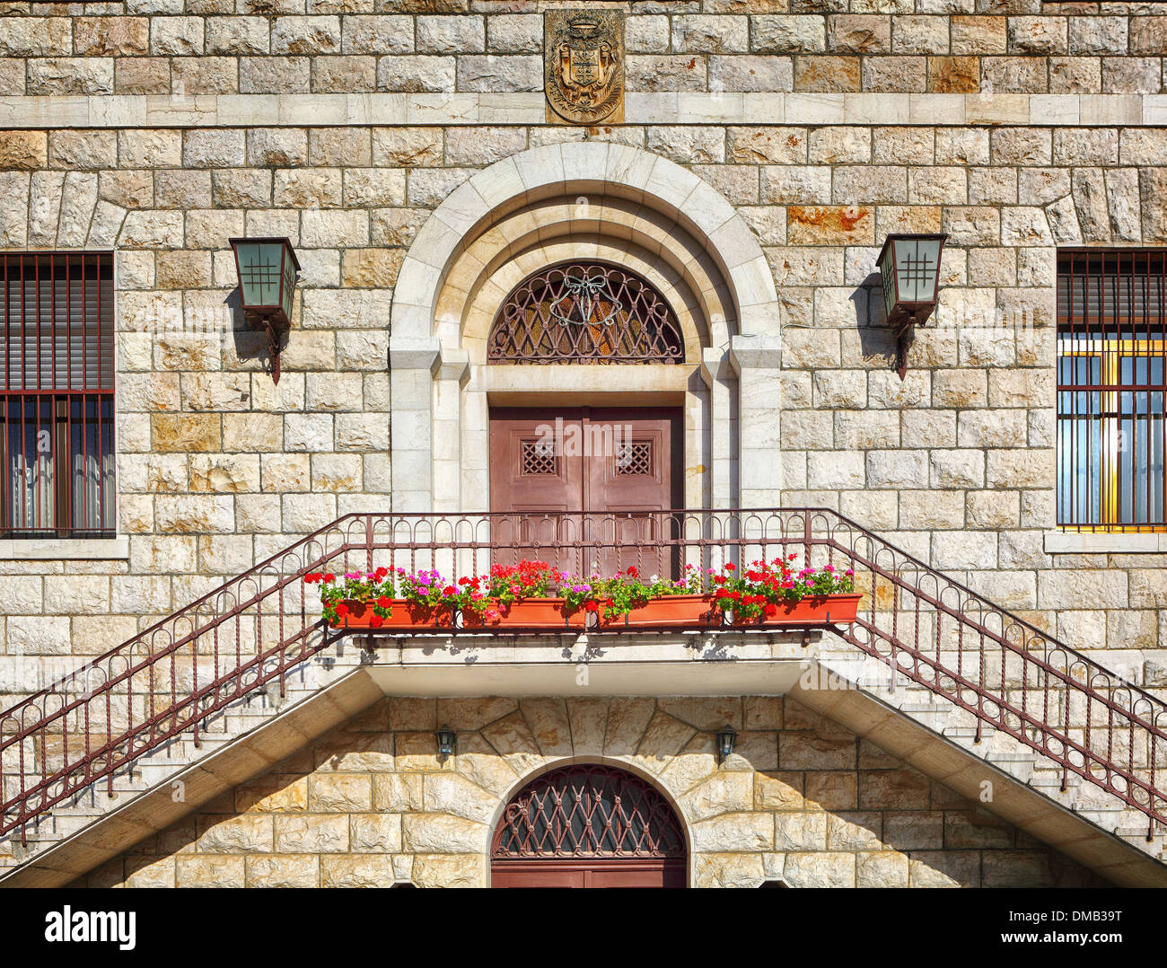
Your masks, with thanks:
M459 731L440 761L433 731ZM740 731L720 767L714 733ZM85 886L485 886L524 778L627 765L679 807L691 884L1081 886L1089 871L777 697L386 699Z

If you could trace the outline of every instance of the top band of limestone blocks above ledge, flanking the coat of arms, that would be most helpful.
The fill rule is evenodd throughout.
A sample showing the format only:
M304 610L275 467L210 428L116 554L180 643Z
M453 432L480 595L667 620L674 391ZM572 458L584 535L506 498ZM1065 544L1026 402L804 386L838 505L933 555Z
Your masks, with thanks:
M7 2L0 95L538 92L538 0ZM631 91L1158 93L1154 4L630 0Z

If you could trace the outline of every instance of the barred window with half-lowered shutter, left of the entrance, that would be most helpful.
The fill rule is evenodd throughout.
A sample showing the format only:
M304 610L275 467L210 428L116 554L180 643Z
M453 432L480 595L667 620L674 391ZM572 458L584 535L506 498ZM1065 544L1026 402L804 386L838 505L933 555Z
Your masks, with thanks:
M113 256L0 255L0 532L112 537Z

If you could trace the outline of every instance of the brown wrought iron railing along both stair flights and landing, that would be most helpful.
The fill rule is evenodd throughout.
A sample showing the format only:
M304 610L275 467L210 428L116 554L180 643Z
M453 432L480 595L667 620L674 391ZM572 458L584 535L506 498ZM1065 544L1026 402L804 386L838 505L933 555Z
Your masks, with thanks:
M1167 705L966 585L825 509L629 514L348 515L0 712L0 833L113 778L343 631L320 619L315 571L482 573L536 557L580 573L797 555L851 567L865 593L836 632L931 692L1167 823ZM307 593L306 593L307 592ZM393 634L407 634L394 628ZM448 634L448 633L446 633ZM485 634L492 634L485 632ZM516 634L508 629L508 634ZM523 633L518 633L523 634ZM489 640L484 640L489 645Z

